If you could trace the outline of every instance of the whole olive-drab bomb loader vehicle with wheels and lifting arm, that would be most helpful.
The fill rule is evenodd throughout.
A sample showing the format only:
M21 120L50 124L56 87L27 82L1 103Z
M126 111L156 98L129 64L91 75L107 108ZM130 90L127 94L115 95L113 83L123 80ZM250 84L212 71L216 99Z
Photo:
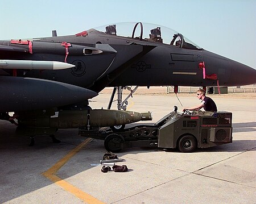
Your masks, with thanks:
M79 134L104 140L106 150L119 152L124 147L178 148L180 152L193 152L196 148L232 143L232 113L226 111L203 112L174 111L158 122L134 123L124 130L111 128L79 128Z

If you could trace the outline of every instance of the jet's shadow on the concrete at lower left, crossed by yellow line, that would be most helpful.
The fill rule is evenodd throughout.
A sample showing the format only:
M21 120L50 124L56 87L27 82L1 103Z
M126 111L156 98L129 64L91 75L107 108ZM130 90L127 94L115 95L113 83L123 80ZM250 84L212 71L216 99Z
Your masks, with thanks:
M13 124L0 122L0 203L52 185L42 173L86 139L78 136L77 130L60 130L56 138L61 143L52 143L49 136L36 136L35 145L30 147L30 138L16 135L15 130ZM105 152L102 141L93 140L57 170L56 176L65 179L89 170L91 163L100 163Z

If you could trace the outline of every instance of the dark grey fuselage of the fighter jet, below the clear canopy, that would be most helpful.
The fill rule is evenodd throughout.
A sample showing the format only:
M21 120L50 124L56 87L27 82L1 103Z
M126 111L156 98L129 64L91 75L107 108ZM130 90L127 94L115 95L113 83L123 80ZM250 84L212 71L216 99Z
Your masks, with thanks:
M256 71L204 49L108 35L88 30L85 36L61 36L32 41L32 53L15 52L1 59L66 61L76 65L63 70L30 70L18 76L43 78L100 91L106 86L217 86L217 80L203 77L216 74L220 86L254 84ZM61 43L70 43L66 47ZM0 41L0 45L27 45ZM238 77L239 76L239 77Z

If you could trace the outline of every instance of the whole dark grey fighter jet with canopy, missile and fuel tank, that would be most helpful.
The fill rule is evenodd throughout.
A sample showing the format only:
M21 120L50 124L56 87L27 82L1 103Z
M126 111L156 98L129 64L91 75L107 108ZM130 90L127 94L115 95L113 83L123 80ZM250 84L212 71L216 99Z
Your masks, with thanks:
M141 22L0 41L0 113L15 112L27 127L48 127L44 116L55 118L59 110L88 110L88 99L106 86L255 83L255 69L206 51L178 32ZM69 116L69 122L81 126L75 118ZM54 127L61 128L60 122Z

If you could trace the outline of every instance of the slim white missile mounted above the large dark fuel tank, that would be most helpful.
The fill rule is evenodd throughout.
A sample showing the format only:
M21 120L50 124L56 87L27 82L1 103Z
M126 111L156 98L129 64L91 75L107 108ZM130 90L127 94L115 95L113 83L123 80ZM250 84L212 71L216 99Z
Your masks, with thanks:
M0 69L47 69L59 70L72 68L75 65L60 61L35 60L0 60Z

